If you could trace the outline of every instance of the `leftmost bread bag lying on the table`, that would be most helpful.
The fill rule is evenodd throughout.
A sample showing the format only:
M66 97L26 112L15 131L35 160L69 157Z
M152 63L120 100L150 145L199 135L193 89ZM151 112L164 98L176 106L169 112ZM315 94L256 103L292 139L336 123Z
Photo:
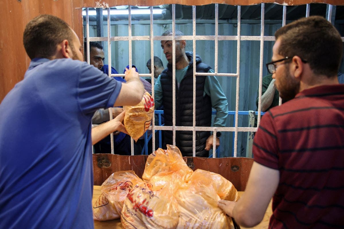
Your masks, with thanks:
M101 195L93 206L93 219L110 220L120 218L123 202L129 190L143 181L134 171L112 173L101 185Z

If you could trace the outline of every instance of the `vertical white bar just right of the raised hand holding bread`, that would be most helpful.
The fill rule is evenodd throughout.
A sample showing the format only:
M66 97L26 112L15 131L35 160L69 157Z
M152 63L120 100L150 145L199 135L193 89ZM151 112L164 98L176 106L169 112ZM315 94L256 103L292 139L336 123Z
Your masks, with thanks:
M153 7L150 7L150 44L151 44L151 74L150 75L152 80L152 97L154 98L154 40L153 40ZM155 107L157 108L157 107ZM155 115L152 118L152 152L155 151ZM146 143L148 144L148 142ZM148 154L152 153L148 152Z

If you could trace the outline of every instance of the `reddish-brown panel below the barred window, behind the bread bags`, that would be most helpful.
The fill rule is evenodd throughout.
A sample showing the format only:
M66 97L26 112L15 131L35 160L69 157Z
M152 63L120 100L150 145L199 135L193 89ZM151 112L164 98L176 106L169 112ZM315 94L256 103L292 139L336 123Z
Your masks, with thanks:
M142 178L146 155L121 156L117 154L93 154L94 185L101 185L112 173L133 170ZM238 191L245 191L251 171L252 158L200 158L183 157L192 169L218 173L232 182Z

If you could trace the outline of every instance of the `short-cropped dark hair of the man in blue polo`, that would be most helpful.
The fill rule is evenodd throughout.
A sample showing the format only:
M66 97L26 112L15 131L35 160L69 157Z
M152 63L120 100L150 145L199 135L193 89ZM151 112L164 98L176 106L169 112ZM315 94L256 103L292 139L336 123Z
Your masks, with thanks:
M53 15L42 14L26 24L23 43L30 59L50 59L56 53L57 44L65 39L74 48L73 36L72 29L65 21Z

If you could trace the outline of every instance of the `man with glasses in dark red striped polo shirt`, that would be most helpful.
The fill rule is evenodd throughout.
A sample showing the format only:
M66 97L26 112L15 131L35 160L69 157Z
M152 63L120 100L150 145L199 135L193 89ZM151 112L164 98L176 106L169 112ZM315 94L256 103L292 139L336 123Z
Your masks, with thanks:
M219 207L252 227L273 197L269 228L344 228L342 39L320 16L294 21L275 37L267 67L282 99L291 100L262 117L246 191Z

